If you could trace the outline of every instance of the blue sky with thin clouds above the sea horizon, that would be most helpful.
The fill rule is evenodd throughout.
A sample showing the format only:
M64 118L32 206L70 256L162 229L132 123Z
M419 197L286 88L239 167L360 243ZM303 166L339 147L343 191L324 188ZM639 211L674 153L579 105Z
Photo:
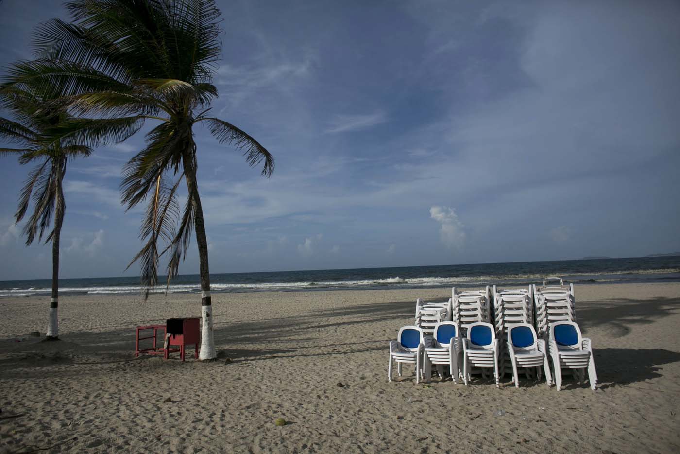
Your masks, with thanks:
M680 3L218 5L214 112L276 168L197 129L211 272L680 250ZM55 16L1 2L0 71ZM142 141L69 164L61 276L120 276L137 252L118 184ZM0 280L50 277L12 224L28 171L1 158ZM197 263L194 242L180 272Z

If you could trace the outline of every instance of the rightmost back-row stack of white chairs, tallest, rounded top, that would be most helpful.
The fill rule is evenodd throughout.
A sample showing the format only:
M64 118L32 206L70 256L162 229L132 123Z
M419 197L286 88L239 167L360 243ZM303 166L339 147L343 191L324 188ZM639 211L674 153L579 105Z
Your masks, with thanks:
M559 285L549 285L558 281ZM543 285L534 285L534 304L536 304L536 327L539 336L547 334L550 323L556 321L576 321L574 285L564 285L562 278L543 279Z

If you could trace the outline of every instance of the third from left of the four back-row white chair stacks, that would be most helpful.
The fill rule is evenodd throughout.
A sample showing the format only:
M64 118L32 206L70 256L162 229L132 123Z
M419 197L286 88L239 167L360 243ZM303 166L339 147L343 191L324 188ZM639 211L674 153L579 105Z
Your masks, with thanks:
M532 289L500 290L494 285L494 323L500 348L500 375L512 374L507 330L512 325L533 324Z

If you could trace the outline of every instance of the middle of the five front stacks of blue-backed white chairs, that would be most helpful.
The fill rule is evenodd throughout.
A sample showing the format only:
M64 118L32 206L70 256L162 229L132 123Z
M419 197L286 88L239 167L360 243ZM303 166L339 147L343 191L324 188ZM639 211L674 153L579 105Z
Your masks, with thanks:
M498 376L498 339L494 325L486 322L471 323L463 339L463 380L467 385L472 368L493 368L496 388Z

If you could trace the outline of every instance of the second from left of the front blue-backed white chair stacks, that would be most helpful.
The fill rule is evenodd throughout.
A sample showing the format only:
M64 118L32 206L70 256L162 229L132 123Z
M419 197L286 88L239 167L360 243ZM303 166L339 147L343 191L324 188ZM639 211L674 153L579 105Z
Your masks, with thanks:
M425 380L430 381L432 378L432 364L436 364L438 368L443 365L449 366L451 371L451 378L456 382L460 370L458 368L458 357L462 362L463 345L460 338L460 331L458 324L453 321L444 321L435 326L435 332L430 338L426 336L424 340L424 375ZM443 376L443 374L439 374Z

